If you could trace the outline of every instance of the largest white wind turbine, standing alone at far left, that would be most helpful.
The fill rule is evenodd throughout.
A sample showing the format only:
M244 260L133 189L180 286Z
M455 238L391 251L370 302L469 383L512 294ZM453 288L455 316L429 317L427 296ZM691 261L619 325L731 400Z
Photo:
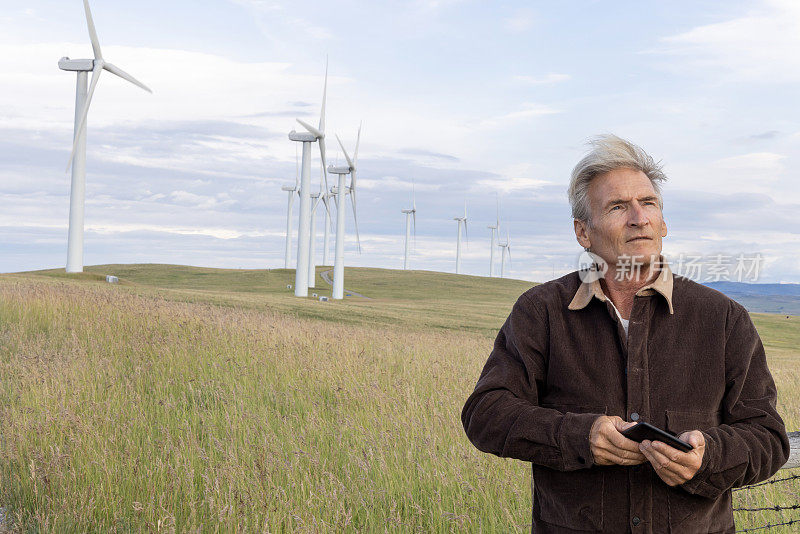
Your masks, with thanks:
M89 39L92 42L94 59L70 59L62 57L58 62L61 70L78 73L78 83L75 90L75 128L73 130L72 152L69 156L67 169L72 164L72 184L69 194L69 237L67 240L67 267L68 273L83 272L83 208L86 197L86 117L89 115L89 105L100 79L100 74L108 72L138 85L148 93L152 91L142 82L120 69L106 63L100 50L97 31L94 28L92 12L88 0L83 0L83 9L86 12L86 24L89 27ZM88 72L92 73L92 82L87 92Z

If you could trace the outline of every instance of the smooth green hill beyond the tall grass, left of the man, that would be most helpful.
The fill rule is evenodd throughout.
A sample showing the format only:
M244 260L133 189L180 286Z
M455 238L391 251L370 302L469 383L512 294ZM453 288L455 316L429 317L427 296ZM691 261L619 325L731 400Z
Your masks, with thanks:
M309 295L330 296L330 286L317 267L316 288ZM294 297L294 270L236 270L181 265L95 265L84 273L63 269L6 276L37 276L105 284L105 275L120 279L121 291L215 304L269 309L295 317L317 318L344 324L401 326L408 329L440 328L496 332L517 297L531 282L431 271L395 271L345 268L345 289L368 297L319 302ZM332 275L331 275L332 276Z

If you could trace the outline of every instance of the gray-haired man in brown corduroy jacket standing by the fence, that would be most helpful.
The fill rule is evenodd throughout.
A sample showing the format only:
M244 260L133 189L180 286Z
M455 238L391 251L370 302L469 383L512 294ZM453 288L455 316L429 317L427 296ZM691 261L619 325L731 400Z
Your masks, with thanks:
M731 488L788 458L747 311L663 261L664 180L636 145L593 142L569 199L605 268L523 294L464 406L478 449L532 463L533 532L734 532ZM692 450L627 439L637 421Z

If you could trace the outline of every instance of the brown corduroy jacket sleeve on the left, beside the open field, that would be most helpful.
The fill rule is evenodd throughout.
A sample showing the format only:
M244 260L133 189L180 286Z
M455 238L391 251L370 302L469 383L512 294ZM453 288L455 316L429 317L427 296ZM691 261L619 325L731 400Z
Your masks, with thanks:
M461 413L467 437L483 452L551 469L588 468L589 431L602 414L539 406L546 383L545 314L523 295L514 305Z

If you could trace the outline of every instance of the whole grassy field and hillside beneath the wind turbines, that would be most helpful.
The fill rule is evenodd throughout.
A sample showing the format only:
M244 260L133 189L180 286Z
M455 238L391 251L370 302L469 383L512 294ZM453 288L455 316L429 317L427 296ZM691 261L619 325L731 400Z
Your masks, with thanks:
M285 270L0 276L5 528L528 531L529 467L474 449L460 410L530 284L377 269L346 280L371 298L296 299ZM754 321L798 429L800 319ZM793 504L798 490L767 485L737 504Z

